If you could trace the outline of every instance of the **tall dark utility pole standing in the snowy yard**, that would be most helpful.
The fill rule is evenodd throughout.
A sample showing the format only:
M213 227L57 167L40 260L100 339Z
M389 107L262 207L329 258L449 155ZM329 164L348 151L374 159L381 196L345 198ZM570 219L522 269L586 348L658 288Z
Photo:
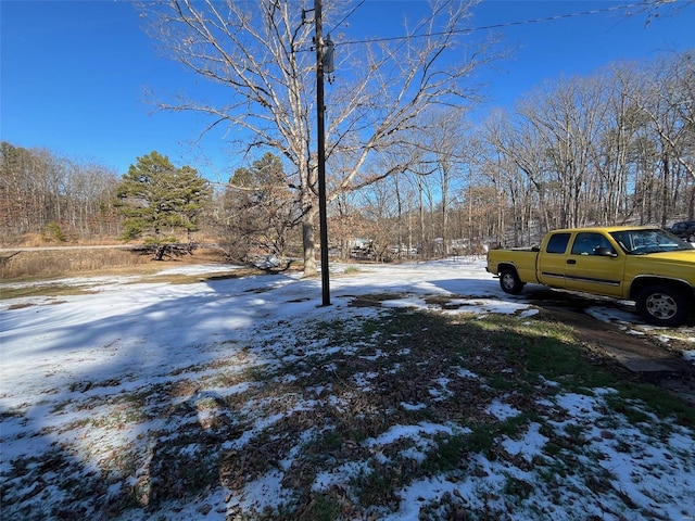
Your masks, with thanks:
M314 0L316 22L316 129L318 145L318 220L321 246L323 305L330 306L330 278L328 274L328 219L326 216L326 129L324 126L324 25L321 0Z

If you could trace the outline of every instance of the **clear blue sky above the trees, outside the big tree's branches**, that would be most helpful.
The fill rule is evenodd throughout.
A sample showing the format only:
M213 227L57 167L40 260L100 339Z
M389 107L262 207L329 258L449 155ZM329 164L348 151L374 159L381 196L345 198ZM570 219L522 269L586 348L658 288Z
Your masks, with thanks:
M521 23L628 3L483 1L472 26L503 25L496 30L505 45L516 48L509 60L485 74L490 105L509 105L546 79L695 48L695 5L648 27L644 15L626 17L619 11ZM416 0L366 0L344 33L350 38L392 34L402 13L420 9L422 2ZM190 91L202 80L160 55L128 3L1 0L0 23L0 139L93 158L119 174L152 150L213 180L226 180L236 167L224 153L222 135L191 145L204 127L201 116L156 112L146 101L146 89ZM504 26L513 23L521 24Z

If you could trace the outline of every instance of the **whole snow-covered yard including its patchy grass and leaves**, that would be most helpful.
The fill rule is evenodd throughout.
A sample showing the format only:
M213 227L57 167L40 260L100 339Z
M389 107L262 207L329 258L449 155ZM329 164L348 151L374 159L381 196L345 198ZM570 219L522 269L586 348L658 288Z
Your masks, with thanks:
M483 266L0 301L2 519L695 519L692 408L535 369L581 345Z

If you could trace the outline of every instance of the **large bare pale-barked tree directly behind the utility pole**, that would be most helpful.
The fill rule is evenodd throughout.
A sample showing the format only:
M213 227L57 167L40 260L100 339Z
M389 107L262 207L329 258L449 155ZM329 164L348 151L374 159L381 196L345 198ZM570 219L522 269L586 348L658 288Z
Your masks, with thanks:
M468 0L433 0L425 20L404 27L403 39L353 46L349 54L343 52L348 42L341 46L340 35L333 35L336 52L340 50L338 75L341 60L350 64L350 73L327 96L328 163L340 155L344 165L328 173L328 201L403 171L404 165L377 171L369 163L407 141L422 111L471 99L467 78L490 59L488 42L465 36L472 5ZM160 106L207 114L212 123L203 131L228 126L240 137L241 150L269 148L292 165L286 182L304 212L304 270L313 275L318 212L311 123L315 64L314 55L303 52L313 46L313 28L303 23L302 7L292 0L258 0L252 10L248 2L232 0L174 0L146 2L143 12L176 60L229 91L224 103L178 98ZM325 5L325 25L344 18L349 8Z

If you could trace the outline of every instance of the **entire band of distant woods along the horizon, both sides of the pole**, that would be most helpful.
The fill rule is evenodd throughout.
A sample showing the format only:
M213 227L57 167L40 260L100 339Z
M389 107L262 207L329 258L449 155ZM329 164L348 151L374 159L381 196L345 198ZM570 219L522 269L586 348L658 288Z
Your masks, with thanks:
M365 165L375 180L363 189L341 192L341 157L330 157L331 254L349 256L359 239L377 259L435 256L528 244L565 226L695 217L694 52L547 82L514 110L476 122L441 111L422 117L422 128L439 131L391 151L401 163L395 154L409 154L410 166L392 171L384 153ZM174 166L156 153L125 174L9 142L0 154L2 245L170 232L227 244L231 257L301 256L306 207L288 189L292 169L279 151L235 167L215 190L194 165ZM166 176L138 192L154 163ZM166 219L153 220L162 209Z

